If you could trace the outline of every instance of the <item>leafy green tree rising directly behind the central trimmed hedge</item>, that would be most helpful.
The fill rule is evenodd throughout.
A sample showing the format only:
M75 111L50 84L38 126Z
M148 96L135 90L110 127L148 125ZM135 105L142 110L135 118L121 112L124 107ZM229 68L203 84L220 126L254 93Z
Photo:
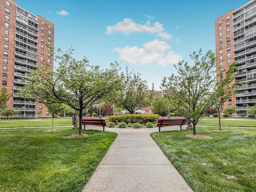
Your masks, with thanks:
M122 91L114 98L116 105L126 109L130 114L150 105L154 94L154 85L152 92L149 93L147 82L140 78L139 73L128 72L126 67L126 76L122 77L122 85Z

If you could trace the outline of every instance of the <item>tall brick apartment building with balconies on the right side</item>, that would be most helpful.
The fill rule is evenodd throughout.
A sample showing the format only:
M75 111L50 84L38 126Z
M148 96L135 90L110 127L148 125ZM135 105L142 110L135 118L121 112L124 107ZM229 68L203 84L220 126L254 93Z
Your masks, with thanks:
M239 85L238 93L228 99L224 108L237 106L233 116L248 115L248 109L256 103L256 0L215 20L215 36L220 70L227 70L232 62L237 62L238 67L232 82Z

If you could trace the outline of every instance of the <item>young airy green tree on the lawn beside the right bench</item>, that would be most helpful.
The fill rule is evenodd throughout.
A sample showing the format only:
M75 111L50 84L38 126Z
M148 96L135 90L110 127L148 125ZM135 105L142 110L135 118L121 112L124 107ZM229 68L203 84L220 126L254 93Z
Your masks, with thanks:
M166 90L172 90L172 104L192 122L193 134L196 134L196 124L213 104L216 57L211 50L202 56L201 49L198 53L190 54L190 57L194 60L193 66L179 62L174 65L178 75L164 77L161 85Z

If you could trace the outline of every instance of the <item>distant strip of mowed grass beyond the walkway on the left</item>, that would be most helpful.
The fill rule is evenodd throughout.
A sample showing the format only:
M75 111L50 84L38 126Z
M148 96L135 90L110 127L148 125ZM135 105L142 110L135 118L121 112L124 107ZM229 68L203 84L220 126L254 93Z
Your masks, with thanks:
M69 126L72 125L72 118L54 118L53 126ZM34 120L17 120L17 121L1 121L0 128L8 127L42 127L52 126L52 119L34 119Z

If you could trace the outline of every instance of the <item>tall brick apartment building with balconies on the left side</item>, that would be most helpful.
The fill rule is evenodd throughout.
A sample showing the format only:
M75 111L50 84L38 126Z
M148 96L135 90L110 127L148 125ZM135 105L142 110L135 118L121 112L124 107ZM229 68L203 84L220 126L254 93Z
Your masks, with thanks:
M13 0L0 0L0 88L6 87L12 94L7 106L20 112L14 117L49 116L39 101L17 95L30 71L44 60L53 70L53 58L45 44L54 46L54 24L17 6Z

